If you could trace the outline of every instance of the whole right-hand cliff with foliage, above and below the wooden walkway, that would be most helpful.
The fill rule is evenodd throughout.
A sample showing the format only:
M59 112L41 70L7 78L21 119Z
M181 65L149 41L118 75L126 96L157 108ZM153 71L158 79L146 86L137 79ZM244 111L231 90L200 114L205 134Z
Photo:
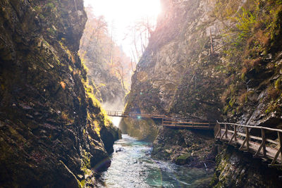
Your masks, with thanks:
M161 2L164 12L133 75L125 111L281 127L281 1ZM204 166L226 149L207 132L159 124L123 119L121 129L150 137L153 156L180 164ZM215 187L228 181L219 168L226 163L216 164ZM252 170L264 171L246 173Z

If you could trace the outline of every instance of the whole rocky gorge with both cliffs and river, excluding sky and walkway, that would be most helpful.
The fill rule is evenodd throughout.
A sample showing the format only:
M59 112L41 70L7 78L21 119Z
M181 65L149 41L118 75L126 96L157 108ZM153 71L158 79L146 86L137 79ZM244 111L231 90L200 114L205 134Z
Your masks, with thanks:
M83 0L0 1L0 187L281 186L281 153L271 168L216 141L216 129L168 128L142 114L281 130L282 1L161 7L133 68ZM140 115L119 130L102 106Z

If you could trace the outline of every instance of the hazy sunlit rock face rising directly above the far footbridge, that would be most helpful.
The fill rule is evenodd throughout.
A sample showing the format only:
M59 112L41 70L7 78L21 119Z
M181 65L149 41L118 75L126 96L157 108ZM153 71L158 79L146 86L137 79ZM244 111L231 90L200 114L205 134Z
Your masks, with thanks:
M132 78L126 111L216 120L221 114L224 77L219 67L219 31L214 1L163 1L164 13ZM214 87L216 85L216 87ZM150 125L149 125L150 126ZM123 131L138 122L121 123ZM140 126L139 126L140 127ZM154 128L157 132L157 127ZM129 132L133 136L137 136Z

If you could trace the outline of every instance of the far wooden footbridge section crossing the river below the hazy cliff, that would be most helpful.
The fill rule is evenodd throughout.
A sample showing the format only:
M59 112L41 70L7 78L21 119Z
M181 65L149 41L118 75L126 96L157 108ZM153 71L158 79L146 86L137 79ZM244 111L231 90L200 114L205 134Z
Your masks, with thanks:
M186 128L193 130L214 130L216 123L201 120L180 120L178 118L168 117L167 115L155 115L137 112L106 111L106 114L112 117L123 118L152 118L161 120L161 125L168 128Z

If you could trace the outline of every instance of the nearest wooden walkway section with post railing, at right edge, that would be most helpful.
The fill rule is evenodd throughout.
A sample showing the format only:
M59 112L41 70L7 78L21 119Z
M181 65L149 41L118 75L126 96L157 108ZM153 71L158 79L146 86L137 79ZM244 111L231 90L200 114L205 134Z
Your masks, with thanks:
M223 127L223 128L222 128ZM259 130L260 134L252 135L251 130ZM278 141L266 138L266 131L276 134ZM254 153L254 157L271 159L269 166L282 166L282 130L269 127L239 125L235 123L216 123L216 139L228 144L240 146L240 150Z

